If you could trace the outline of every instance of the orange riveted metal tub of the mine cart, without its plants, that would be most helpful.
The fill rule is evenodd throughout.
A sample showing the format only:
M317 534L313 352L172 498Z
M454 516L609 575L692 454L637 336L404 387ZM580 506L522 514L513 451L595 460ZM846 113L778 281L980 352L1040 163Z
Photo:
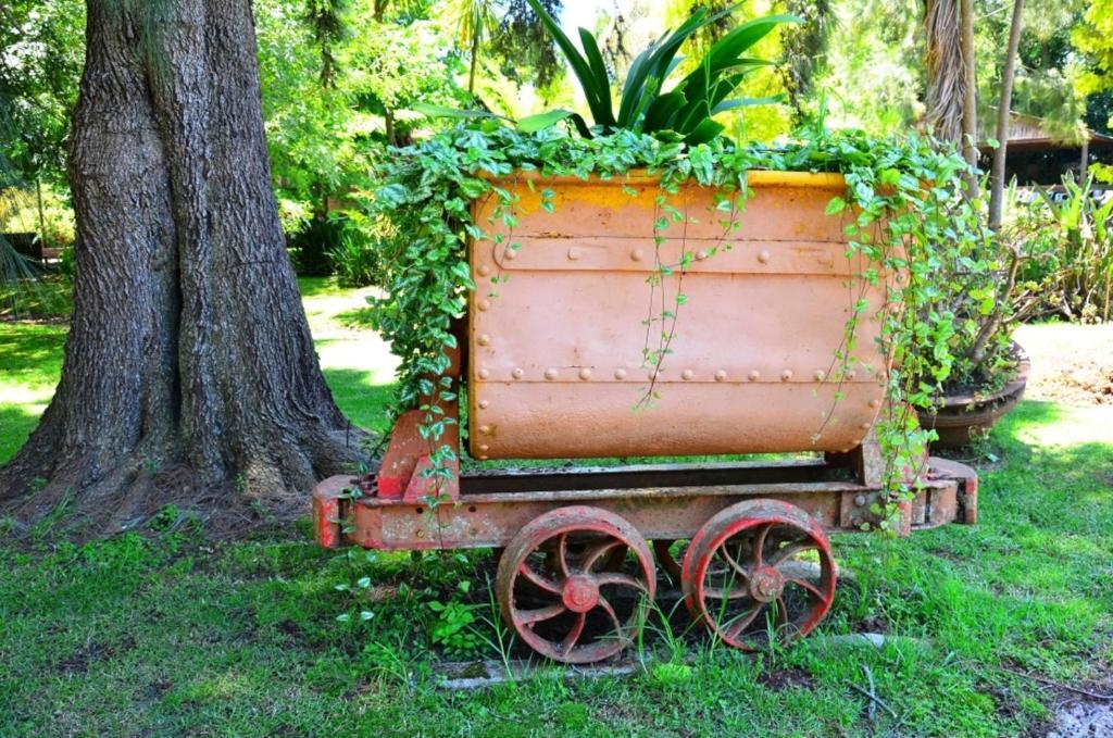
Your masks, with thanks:
M668 203L688 222L660 234L659 253L663 263L679 264L683 252L693 260L656 287L647 282L662 215L656 178L521 173L499 186L520 197L513 228L493 218L494 198L474 205L475 222L502 242L475 242L470 255L479 285L467 345L472 455L840 452L861 443L884 395L885 279L855 277L869 265L848 258L844 216L825 215L845 191L840 175L750 173L737 229L725 228L729 214L716 209L713 189L682 187ZM687 302L657 375L660 397L636 410L652 373L646 321L672 309L678 291ZM858 299L868 308L856 361L834 381ZM651 348L659 332L648 331Z

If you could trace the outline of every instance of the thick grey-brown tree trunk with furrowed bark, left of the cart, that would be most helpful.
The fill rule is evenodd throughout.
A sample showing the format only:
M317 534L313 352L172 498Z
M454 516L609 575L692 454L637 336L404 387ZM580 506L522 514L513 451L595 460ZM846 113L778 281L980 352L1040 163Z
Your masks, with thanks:
M250 1L88 0L87 23L72 325L0 503L117 530L187 490L304 504L358 450L278 223Z

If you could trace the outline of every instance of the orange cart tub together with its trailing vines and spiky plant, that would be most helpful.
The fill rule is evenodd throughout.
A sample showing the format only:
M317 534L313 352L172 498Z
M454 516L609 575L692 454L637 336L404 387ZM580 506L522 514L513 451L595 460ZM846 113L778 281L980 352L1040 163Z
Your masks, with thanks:
M696 13L634 59L615 110L591 33L581 53L531 4L593 120L426 108L470 120L396 151L373 198L411 224L374 315L429 441L430 496L457 463L464 316L481 460L837 453L873 429L900 488L926 440L906 409L953 363L938 274L992 268L962 157L819 125L776 147L722 137L715 116L755 102L731 98L764 63L743 55L791 18L739 26L669 85L717 19Z

